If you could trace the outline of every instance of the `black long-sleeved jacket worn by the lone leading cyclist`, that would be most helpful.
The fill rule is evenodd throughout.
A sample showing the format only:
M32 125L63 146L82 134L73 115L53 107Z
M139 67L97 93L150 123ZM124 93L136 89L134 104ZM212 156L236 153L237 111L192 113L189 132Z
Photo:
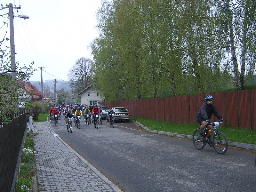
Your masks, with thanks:
M199 112L196 114L196 119L203 118L204 120L210 120L212 117L212 113L218 117L219 119L222 119L219 111L215 107L215 105L207 105L207 102L204 102L202 107L200 108Z

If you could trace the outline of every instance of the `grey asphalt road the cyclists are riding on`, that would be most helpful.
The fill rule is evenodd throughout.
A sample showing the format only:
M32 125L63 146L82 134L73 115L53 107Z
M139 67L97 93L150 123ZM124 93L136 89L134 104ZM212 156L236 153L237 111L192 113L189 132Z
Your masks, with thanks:
M63 119L55 132L125 192L255 191L255 152L194 148L191 140L150 134L134 123L106 120L68 133Z

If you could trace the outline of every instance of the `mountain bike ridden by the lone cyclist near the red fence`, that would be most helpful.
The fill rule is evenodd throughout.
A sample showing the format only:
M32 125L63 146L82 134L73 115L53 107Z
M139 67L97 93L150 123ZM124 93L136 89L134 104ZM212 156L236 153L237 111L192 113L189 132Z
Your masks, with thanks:
M193 133L193 137L192 137L194 146L197 149L202 150L204 148L204 146L206 145L206 143L209 144L210 137L213 134L212 144L213 144L214 150L219 154L224 154L228 149L228 140L227 140L226 136L224 135L224 133L219 132L219 130L216 129L217 127L220 126L220 123L222 123L222 122L219 122L219 121L210 122L208 125L212 125L212 127L213 127L212 132L210 132L207 135L209 129L212 127L204 128L204 130L202 131L203 139L201 139L201 140L197 139L199 136L200 128L195 129L195 131Z

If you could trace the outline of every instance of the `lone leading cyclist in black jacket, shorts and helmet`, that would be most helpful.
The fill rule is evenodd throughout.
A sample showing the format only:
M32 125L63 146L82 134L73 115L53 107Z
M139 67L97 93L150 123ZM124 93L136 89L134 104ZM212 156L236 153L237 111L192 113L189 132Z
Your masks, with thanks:
M210 119L212 117L212 113L219 118L220 121L223 121L222 116L220 115L219 111L215 107L214 104L212 104L213 97L211 95L207 95L204 97L205 102L200 108L199 112L196 114L196 122L200 124L200 131L199 131L199 137L198 140L202 139L202 131L205 127L212 127L212 125L209 125ZM211 138L212 139L211 135ZM210 146L212 147L212 140L209 141Z

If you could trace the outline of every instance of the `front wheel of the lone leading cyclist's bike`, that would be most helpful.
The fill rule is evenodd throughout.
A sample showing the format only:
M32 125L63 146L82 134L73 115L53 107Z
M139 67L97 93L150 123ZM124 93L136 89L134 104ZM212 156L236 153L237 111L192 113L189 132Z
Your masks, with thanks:
M212 137L213 148L219 154L224 154L228 149L228 140L222 132L216 132Z

